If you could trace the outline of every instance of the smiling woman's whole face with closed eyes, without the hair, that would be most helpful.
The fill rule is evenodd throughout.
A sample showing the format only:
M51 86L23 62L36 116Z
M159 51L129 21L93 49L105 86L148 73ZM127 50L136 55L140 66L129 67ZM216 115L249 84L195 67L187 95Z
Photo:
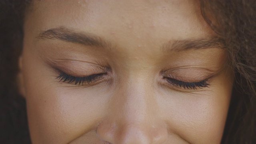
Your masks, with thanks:
M233 76L200 5L34 1L20 89L34 144L219 144Z

